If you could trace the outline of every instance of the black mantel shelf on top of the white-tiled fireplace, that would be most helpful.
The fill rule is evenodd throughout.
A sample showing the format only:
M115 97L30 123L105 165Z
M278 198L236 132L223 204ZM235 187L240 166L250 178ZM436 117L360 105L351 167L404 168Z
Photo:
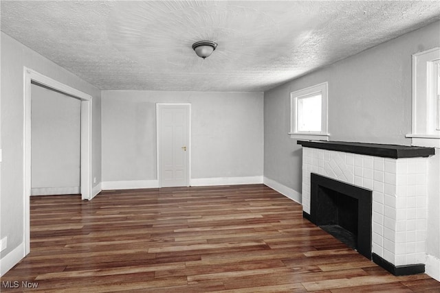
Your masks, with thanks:
M353 154L366 154L382 158L415 158L418 156L431 156L435 154L434 148L424 148L409 145L388 145L379 143L355 143L348 141L298 141L298 145L306 148L321 150L334 150L337 152L351 152Z

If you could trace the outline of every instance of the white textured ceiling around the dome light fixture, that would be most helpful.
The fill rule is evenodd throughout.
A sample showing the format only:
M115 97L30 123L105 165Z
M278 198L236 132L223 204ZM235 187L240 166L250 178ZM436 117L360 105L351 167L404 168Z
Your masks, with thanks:
M439 1L1 1L5 34L103 90L265 91L438 19ZM203 60L198 40L219 45Z

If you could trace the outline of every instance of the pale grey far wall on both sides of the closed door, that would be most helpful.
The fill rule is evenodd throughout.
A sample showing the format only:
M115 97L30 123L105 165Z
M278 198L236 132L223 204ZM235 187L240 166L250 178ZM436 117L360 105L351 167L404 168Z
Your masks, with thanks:
M155 104L192 105L192 178L263 176L263 93L102 91L102 181L157 180Z

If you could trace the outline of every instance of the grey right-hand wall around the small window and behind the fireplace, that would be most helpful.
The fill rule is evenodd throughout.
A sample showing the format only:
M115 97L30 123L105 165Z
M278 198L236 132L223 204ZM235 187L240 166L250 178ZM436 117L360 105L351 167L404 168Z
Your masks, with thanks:
M329 82L330 140L410 145L405 134L411 132L411 56L439 47L439 32L437 21L265 92L265 177L301 191L302 150L287 136L289 95L321 82ZM440 150L436 152L440 156ZM439 159L432 159L430 168L437 174L439 164ZM438 181L430 180L427 238L427 251L437 259Z

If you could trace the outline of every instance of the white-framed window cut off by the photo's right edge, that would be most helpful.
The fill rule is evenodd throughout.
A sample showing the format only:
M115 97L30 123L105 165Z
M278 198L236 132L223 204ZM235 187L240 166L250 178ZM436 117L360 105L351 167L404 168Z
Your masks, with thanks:
M412 145L440 148L440 47L412 55Z

